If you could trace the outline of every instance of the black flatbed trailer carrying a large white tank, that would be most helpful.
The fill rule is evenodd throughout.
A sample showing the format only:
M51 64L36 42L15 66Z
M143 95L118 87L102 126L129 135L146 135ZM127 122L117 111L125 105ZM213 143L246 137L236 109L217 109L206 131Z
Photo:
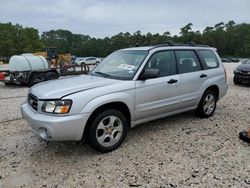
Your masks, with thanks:
M9 61L9 70L0 71L2 80L6 85L21 84L29 87L47 80L57 79L60 76L86 74L87 65L81 65L76 71L76 66L50 68L48 61L43 56L33 54L14 55Z

